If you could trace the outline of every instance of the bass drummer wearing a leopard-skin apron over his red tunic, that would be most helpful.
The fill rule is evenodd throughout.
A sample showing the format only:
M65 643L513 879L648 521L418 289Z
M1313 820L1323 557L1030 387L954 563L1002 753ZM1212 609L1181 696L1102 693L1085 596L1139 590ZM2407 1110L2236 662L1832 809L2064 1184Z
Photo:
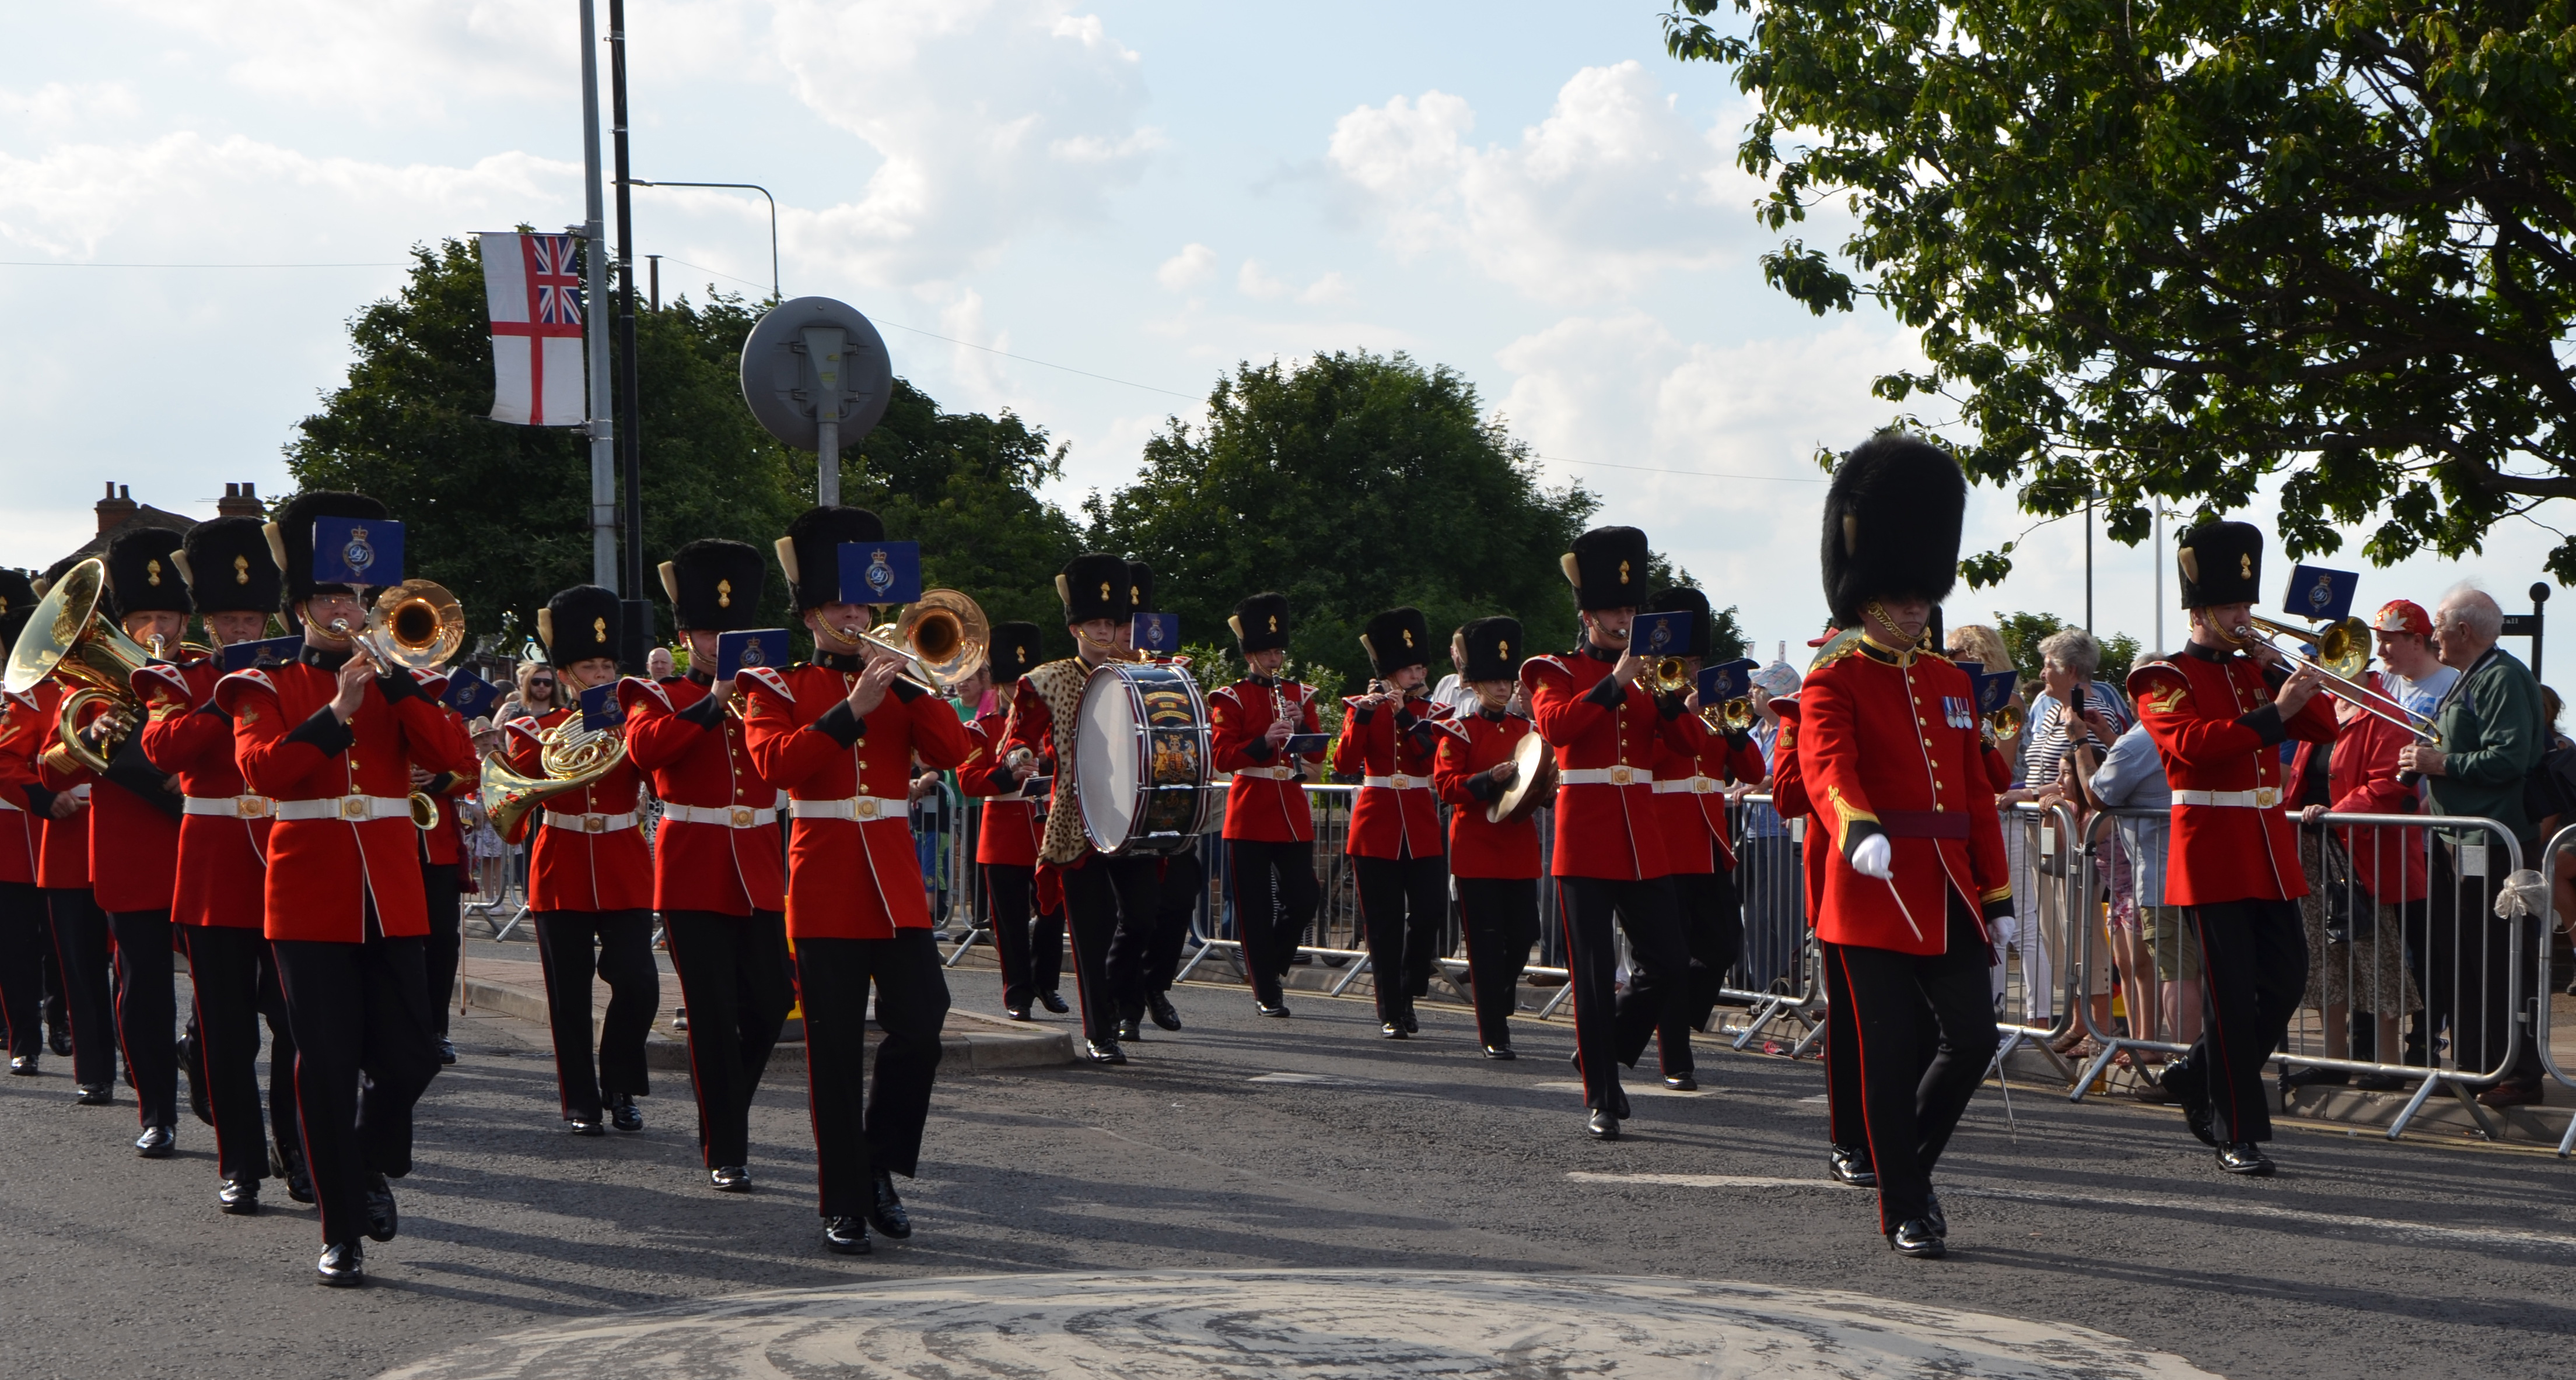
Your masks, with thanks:
M1054 873L1064 886L1064 919L1074 937L1074 991L1082 999L1082 1056L1092 1063L1126 1063L1126 1050L1118 1045L1123 1009L1110 976L1110 945L1121 917L1154 914L1159 906L1159 860L1092 852L1082 834L1074 731L1092 669L1126 659L1118 628L1131 626L1133 615L1128 564L1118 556L1074 556L1056 574L1056 597L1064 600L1064 631L1074 636L1074 657L1046 662L1020 680L1005 752L1056 757L1056 793L1046 806L1038 870Z

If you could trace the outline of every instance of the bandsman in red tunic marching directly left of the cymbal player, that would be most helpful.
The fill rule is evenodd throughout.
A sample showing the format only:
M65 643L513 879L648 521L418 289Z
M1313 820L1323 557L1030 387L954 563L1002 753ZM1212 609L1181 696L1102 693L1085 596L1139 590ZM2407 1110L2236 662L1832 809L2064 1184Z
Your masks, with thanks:
M1350 803L1350 870L1368 929L1376 973L1378 1032L1404 1040L1422 1030L1414 999L1432 986L1440 929L1448 919L1448 847L1432 796L1437 721L1425 682L1432 631L1417 608L1391 608L1368 620L1360 649L1378 672L1368 695L1350 700L1332 770L1360 778Z

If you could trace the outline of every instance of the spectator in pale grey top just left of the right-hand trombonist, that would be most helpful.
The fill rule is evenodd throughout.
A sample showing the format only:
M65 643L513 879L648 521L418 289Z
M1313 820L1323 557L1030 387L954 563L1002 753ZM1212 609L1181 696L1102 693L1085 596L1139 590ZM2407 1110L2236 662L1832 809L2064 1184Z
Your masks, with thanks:
M2151 811L2115 819L2107 839L2110 935L2128 999L2128 1035L2190 1045L2200 1038L2200 945L2184 942L2182 909L2164 904L2174 790L2164 780L2156 739L2143 723L2130 726L2084 785L2102 808ZM2146 1061L2164 1063L2164 1053Z

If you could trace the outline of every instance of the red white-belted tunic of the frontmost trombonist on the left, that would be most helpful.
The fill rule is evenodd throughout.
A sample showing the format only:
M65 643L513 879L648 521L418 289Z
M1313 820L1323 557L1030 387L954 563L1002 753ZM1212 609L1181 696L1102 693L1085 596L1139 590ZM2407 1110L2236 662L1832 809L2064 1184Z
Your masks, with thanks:
M368 682L348 723L330 713L335 693L337 677L312 662L234 672L214 687L232 713L242 783L281 808L268 829L268 937L366 942L368 899L381 935L428 935L412 767L471 770L474 744L417 687L386 700ZM301 819L317 806L337 814Z

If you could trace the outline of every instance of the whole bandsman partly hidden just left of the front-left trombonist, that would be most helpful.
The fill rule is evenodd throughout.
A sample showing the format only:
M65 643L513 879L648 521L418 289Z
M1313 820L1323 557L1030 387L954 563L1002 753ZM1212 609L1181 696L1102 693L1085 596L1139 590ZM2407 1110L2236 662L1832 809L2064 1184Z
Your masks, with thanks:
M216 518L188 530L175 564L216 651L260 641L278 608L278 566L268 536L252 518ZM224 680L211 657L188 664L152 664L134 672L134 690L152 721L139 741L152 765L170 772L185 801L178 821L178 893L170 919L188 947L188 984L196 991L196 1038L206 1066L206 1112L214 1120L214 1159L224 1184L216 1208L234 1215L260 1210L260 1179L270 1164L286 1174L286 1192L312 1202L304 1174L304 1138L296 1128L296 1038L278 989L278 963L268 950L268 829L273 801L252 796L234 760L232 716L214 703ZM260 1020L268 1022L268 1130L260 1135Z

